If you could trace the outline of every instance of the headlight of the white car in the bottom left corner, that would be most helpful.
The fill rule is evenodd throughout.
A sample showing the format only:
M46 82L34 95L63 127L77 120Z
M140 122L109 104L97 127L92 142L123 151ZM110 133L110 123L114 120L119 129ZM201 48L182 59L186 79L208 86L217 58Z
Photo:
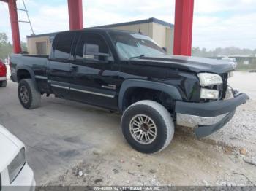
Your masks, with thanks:
M15 180L15 178L20 173L20 170L23 168L23 165L26 163L26 151L23 147L20 149L20 152L16 157L12 160L12 163L8 165L8 173L9 173L9 179L10 184Z

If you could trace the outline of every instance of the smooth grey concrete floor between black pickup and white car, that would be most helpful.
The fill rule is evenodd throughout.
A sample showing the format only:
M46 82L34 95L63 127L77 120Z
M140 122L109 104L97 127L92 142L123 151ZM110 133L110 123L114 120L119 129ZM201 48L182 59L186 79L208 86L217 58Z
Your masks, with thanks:
M102 139L99 144L109 139L105 133L115 133L122 140L121 131L116 130L120 122L116 114L59 98L42 98L42 107L26 110L16 91L13 82L0 89L0 123L26 144L29 165L39 182L94 147L94 136Z

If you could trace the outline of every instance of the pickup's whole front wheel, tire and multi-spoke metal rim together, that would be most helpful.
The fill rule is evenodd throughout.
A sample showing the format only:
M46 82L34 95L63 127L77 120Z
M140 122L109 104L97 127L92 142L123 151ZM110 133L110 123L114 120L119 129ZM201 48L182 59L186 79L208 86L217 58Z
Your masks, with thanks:
M174 134L170 113L161 104L150 100L129 106L121 118L121 128L132 148L143 153L165 149Z

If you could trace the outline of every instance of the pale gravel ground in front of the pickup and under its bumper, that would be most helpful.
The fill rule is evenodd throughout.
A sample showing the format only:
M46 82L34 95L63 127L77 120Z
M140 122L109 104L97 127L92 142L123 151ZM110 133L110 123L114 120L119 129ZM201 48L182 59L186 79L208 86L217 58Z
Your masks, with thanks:
M252 79L256 74L243 72L230 79L230 85L251 99L238 107L233 120L217 133L197 141L187 136L187 130L178 129L171 146L155 155L133 150L89 151L89 158L48 184L255 186L256 85L246 83Z

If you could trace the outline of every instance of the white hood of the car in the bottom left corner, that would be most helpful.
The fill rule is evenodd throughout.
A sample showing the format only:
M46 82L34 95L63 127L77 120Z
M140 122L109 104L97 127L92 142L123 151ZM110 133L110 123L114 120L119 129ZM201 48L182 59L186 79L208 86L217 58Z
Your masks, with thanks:
M0 173L12 162L23 143L0 125Z

